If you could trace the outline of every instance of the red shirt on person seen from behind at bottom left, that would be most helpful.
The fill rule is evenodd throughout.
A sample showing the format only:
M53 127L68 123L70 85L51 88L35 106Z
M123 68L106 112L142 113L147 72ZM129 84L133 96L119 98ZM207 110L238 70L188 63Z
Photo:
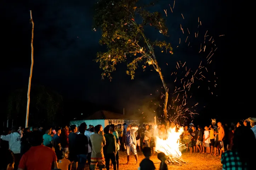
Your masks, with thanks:
M56 153L44 145L33 146L21 157L18 168L24 170L51 170L57 161Z

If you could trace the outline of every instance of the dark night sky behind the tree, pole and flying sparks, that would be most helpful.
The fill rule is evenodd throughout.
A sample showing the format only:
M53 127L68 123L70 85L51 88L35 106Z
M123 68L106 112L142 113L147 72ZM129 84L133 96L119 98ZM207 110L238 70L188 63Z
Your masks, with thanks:
M4 26L1 26L1 85L7 89L4 95L28 84L32 27L29 23L29 10L32 10L35 23L32 84L40 84L56 90L64 99L110 105L118 109L125 107L128 112L142 108L149 96L159 96L162 84L157 72L150 71L150 68L145 72L139 68L135 79L131 80L125 73L126 66L119 65L112 74L111 82L101 79L99 64L93 61L98 51L105 50L105 47L98 43L101 32L92 31L95 2L81 0L1 2L3 4L0 5L1 23L4 23ZM161 0L151 8L152 11L159 11L164 15L169 28L169 37L163 37L154 29L145 30L150 40L158 39L172 43L174 55L156 50L167 86L170 91L177 86L174 83L176 77L171 76L171 73L177 70L176 61L186 62L187 68L194 71L202 61L208 69L205 73L206 80L200 81L190 90L193 96L188 101L188 105L199 103L197 113L208 115L207 119L212 115L218 115L218 112L220 114L225 112L228 117L230 114L226 112L231 112L228 108L233 107L230 104L228 108L225 107L227 103L224 101L228 97L227 93L232 92L227 92L229 85L224 85L228 76L227 71L224 71L227 68L224 59L231 57L228 44L231 43L232 34L235 32L229 29L234 17L233 7L230 2L223 0L176 0L174 8L173 2L173 0ZM169 4L173 8L173 13ZM164 13L166 9L167 17ZM199 28L198 17L201 21ZM180 24L184 28L184 34ZM190 35L186 28L189 29ZM206 31L207 35L214 38L218 48L211 58L210 65L207 64L206 59L209 52L198 53ZM195 32L198 32L198 38L195 38ZM187 36L189 36L189 46L185 43ZM180 44L179 38L181 38ZM238 62L235 65L238 65ZM178 78L181 79L182 76ZM231 105L233 104L231 102Z

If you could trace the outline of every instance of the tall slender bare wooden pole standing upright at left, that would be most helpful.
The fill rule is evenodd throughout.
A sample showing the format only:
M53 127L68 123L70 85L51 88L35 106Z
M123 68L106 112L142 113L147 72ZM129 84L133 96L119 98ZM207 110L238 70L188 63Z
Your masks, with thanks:
M27 115L26 115L26 128L28 127L28 114L29 114L29 103L30 103L30 86L32 78L32 70L34 64L34 48L33 48L33 39L34 39L34 22L32 19L32 11L30 10L30 22L32 23L32 36L31 36L31 66L30 66L30 75L28 81L28 103L27 103Z

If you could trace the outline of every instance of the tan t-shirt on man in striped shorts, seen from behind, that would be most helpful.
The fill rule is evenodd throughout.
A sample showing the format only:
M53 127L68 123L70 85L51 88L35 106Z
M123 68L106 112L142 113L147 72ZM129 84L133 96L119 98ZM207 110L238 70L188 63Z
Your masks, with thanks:
M91 158L103 158L103 145L106 145L106 139L103 135L95 133L90 136L92 144Z

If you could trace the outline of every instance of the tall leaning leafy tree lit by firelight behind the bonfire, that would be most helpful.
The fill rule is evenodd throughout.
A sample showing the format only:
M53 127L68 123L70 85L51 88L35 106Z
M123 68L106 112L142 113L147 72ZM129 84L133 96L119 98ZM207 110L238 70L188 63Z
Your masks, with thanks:
M96 61L103 70L102 78L108 77L109 80L112 79L111 73L116 70L116 65L121 62L127 63L126 73L131 79L134 79L135 70L141 62L144 62L140 65L143 69L147 64L152 66L159 73L165 89L164 116L167 120L168 90L154 48L173 54L172 47L165 41L150 41L144 34L144 28L153 26L163 36L167 36L168 29L160 13L147 11L147 7L153 3L137 5L138 0L99 0L96 3L94 31L102 31L99 43L107 46L107 52L97 53Z

